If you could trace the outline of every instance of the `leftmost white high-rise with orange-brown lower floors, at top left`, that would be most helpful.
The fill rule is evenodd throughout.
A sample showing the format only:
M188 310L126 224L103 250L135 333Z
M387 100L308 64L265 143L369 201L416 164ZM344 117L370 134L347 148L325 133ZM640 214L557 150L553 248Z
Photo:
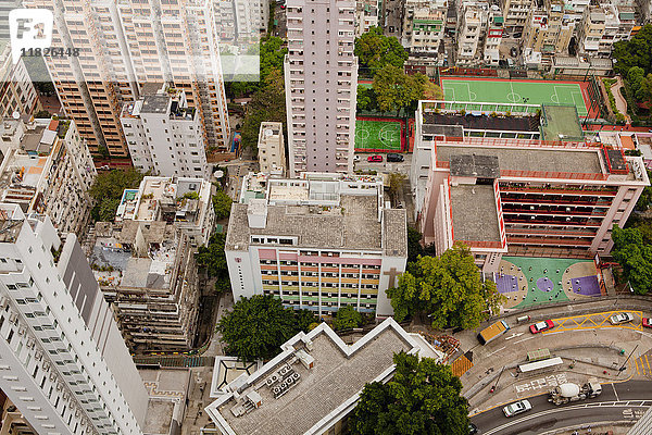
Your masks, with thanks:
M43 58L66 116L75 121L92 153L126 157L120 112L123 99L138 95L138 86L115 20L115 2L26 0L24 5L52 11L53 49L85 53Z

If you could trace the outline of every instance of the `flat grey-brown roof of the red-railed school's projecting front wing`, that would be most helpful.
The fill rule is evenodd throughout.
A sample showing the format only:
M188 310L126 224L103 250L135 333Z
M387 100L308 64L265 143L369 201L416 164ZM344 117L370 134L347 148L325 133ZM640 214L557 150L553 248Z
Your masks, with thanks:
M492 185L451 185L451 213L455 240L501 241Z

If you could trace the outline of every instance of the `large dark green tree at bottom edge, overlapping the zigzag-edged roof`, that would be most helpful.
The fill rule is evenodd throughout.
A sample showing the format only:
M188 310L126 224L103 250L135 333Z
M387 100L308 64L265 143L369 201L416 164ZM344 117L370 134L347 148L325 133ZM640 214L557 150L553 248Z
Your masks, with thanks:
M468 402L451 368L396 353L387 384L366 384L351 413L353 435L467 435Z

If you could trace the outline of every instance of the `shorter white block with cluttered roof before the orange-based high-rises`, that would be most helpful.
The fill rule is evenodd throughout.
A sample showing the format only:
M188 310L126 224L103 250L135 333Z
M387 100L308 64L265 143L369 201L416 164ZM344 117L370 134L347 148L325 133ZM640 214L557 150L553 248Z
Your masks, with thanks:
M186 94L164 85L124 105L122 128L134 167L161 176L208 178L205 138L199 112Z

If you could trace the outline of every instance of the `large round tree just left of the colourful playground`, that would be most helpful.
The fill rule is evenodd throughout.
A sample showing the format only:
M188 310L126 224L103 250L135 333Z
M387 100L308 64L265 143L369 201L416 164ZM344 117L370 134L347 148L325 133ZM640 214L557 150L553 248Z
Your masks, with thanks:
M502 296L491 281L480 281L468 247L461 243L441 257L421 257L399 278L399 286L387 290L394 319L428 314L436 330L477 327L498 311Z

